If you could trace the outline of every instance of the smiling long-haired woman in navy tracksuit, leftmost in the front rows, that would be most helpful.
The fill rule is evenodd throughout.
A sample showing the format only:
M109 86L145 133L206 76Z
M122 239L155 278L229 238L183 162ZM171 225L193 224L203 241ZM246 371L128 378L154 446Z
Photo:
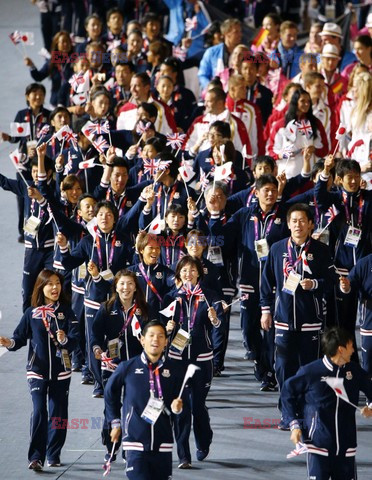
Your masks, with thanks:
M33 412L28 468L40 471L45 457L50 467L61 466L67 430L52 428L49 418L67 425L71 379L70 353L78 342L78 322L62 289L63 277L42 270L28 308L11 338L0 337L0 346L16 351L29 343L27 381ZM46 408L46 405L48 407Z

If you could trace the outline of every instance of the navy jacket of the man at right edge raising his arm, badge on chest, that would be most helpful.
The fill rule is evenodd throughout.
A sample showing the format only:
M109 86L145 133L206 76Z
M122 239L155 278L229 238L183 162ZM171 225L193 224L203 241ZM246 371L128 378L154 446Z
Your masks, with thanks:
M356 248L344 244L349 225L346 219L343 195L346 195L346 204L350 212L349 223L354 227L357 227L359 223L361 199L363 203L361 210L362 225L358 227L362 229L362 236ZM327 178L321 174L315 185L315 197L321 208L327 209L334 204L339 211L337 217L330 224L330 247L336 269L341 269L342 273L345 274L346 271L353 268L357 260L371 253L372 192L370 190L358 190L357 193L348 193L342 190L328 192Z

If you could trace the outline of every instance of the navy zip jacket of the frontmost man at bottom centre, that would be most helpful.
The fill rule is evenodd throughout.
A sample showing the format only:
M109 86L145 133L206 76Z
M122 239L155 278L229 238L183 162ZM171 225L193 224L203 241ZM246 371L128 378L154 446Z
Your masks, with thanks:
M111 426L119 426L121 417L123 450L172 452L171 403L178 396L184 371L174 361L164 358L152 366L153 371L156 368L159 368L165 409L155 425L141 418L150 398L149 366L144 352L127 362L121 362L107 382L105 414ZM156 387L155 396L159 397Z

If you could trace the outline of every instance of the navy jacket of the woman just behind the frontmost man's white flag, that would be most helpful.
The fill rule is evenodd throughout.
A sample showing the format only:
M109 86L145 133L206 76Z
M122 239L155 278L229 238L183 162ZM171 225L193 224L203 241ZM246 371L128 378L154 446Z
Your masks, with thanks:
M205 295L205 297L204 297ZM175 299L177 300L176 309L174 312L173 320L176 322L176 327L173 329L170 338L169 345L171 345L173 338L177 334L177 331L182 328L186 330L191 336L191 342L184 349L182 355L169 348L168 356L175 360L182 360L186 363L193 362L205 362L213 359L213 347L217 350L221 347L224 340L225 329L225 316L223 313L222 304L219 302L221 298L218 298L213 290L207 290L203 288L203 295L199 296L199 304L195 313L196 298L193 296L189 300L183 288L174 288L165 298L162 308L166 308ZM208 304L214 307L219 320L217 327L212 326L208 317ZM219 302L219 303L218 303ZM192 325L192 321L195 315L195 321ZM163 316L163 321L167 323L169 319ZM216 335L213 335L213 344L211 341L212 330L215 330Z

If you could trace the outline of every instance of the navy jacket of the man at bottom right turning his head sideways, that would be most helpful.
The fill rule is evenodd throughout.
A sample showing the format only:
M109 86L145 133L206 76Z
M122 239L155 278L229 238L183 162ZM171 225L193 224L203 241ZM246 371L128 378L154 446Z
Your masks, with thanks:
M324 356L301 367L284 383L280 392L283 416L292 421L293 426L299 423L310 453L355 456L355 408L336 396L324 381L326 377L343 378L347 396L355 405L358 404L359 391L372 398L371 377L357 363L339 367ZM296 413L303 408L304 419L297 421Z

